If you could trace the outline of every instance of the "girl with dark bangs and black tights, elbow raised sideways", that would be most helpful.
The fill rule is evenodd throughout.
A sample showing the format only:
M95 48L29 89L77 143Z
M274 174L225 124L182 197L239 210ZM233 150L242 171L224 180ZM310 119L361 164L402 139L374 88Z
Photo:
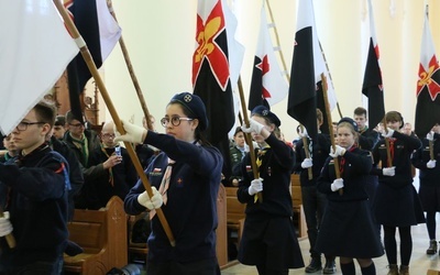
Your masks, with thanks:
M382 133L385 139L373 148L372 174L378 176L373 208L377 223L384 229L388 275L407 275L413 252L411 226L425 222L420 200L413 186L410 162L411 154L421 146L421 142L398 131L404 125L399 112L387 112L385 122L386 128ZM400 268L397 266L397 228L400 235Z

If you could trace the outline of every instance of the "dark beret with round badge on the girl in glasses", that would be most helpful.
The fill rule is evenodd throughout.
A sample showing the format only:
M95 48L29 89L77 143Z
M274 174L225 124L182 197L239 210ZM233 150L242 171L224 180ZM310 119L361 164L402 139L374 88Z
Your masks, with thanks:
M208 118L206 114L206 108L204 101L201 101L200 97L197 95L189 94L187 91L176 94L172 100L169 101L170 103L180 103L183 105L188 111L191 112L191 119L198 119L199 120L199 129L200 131L204 131L208 128Z

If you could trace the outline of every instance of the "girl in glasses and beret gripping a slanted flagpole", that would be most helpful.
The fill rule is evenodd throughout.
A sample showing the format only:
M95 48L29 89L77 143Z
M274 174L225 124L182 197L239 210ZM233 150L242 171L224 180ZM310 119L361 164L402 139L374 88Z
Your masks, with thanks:
M223 158L202 132L208 127L201 99L189 92L175 95L161 120L166 134L122 122L127 134L116 139L151 144L162 152L145 169L152 198L139 180L124 200L129 215L150 210L147 274L217 275L217 195ZM162 207L175 237L175 246L155 216Z

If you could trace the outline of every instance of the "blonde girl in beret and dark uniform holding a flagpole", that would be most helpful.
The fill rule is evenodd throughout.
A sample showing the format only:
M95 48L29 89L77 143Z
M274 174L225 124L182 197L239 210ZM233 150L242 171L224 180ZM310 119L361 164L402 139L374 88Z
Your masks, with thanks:
M350 118L338 123L338 142L318 178L317 188L327 194L316 250L340 256L342 274L354 275L353 258L362 274L376 274L373 257L384 254L369 204L366 186L370 183L372 158L358 147L358 124ZM339 162L337 177L334 162Z

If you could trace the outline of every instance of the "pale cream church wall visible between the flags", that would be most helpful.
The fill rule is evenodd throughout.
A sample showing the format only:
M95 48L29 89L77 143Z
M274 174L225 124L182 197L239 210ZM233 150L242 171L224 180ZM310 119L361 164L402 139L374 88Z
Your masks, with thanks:
M372 2L381 48L385 109L398 110L407 121L414 122L424 3L430 3L431 29L439 46L440 3L436 0ZM239 19L238 40L245 46L241 76L248 98L262 1L230 0L230 3ZM270 3L290 73L297 0L272 0ZM361 89L370 36L367 2L315 0L314 3L318 35L339 106L343 116L351 117L355 107L365 106ZM113 0L113 7L146 105L158 121L174 94L191 91L193 88L191 57L197 1ZM394 10L391 9L393 7ZM119 46L107 59L103 74L119 116L141 124L143 112ZM105 107L103 103L100 106L101 109ZM272 110L280 118L286 139L293 140L297 122L286 112L287 99L272 107ZM332 116L333 120L339 120L337 111ZM101 118L110 119L108 113ZM162 131L158 123L156 128Z

